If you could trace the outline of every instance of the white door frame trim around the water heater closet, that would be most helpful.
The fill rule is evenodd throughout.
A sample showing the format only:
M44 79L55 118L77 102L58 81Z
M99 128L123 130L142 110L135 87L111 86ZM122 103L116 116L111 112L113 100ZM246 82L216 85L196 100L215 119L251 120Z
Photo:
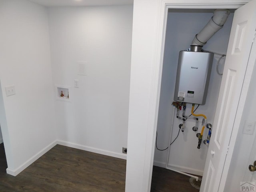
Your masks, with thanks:
M150 170L144 172L143 178L143 191L150 192L151 181L152 181L152 171L154 162L154 150L156 142L156 129L158 121L158 108L160 100L160 88L162 79L162 66L163 66L163 56L164 56L164 44L166 36L166 24L168 17L169 8L182 8L182 9L215 9L215 8L227 8L227 9L237 9L240 6L250 2L250 0L225 0L225 1L214 1L214 0L158 0L158 15L157 15L157 32L156 32L156 43L154 52L154 66L152 69L152 85L150 90L150 108L149 108L149 119L148 131L146 134L146 158L144 160L144 170ZM236 132L237 134L237 132ZM232 142L230 143L230 148L234 149L234 144L236 140L236 134L232 134ZM231 153L232 154L232 153ZM147 158L148 157L148 158ZM230 160L232 156L228 157ZM225 163L225 172L228 171L230 166L230 161ZM221 180L220 183L223 185L225 180Z

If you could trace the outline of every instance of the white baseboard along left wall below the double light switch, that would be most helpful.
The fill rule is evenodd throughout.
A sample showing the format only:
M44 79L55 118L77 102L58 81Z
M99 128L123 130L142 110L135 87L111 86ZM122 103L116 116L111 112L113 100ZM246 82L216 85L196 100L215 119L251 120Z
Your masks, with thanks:
M30 166L33 162L35 162L38 158L40 158L43 154L48 152L51 148L53 148L57 144L57 141L52 142L45 148L43 148L40 152L32 156L29 160L27 160L24 164L19 166L17 169L6 169L6 173L10 174L12 176L17 176L20 172L22 172L24 169L26 169L28 166Z

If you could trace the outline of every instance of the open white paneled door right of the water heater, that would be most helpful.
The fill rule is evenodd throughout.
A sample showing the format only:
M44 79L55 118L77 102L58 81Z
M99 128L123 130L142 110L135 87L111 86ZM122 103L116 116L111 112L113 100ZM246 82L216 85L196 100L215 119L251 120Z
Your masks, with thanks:
M255 18L256 0L238 8L234 14L200 192L223 192L220 180L226 180L224 164L227 151L229 157L233 152L233 148L228 150L230 137L232 134L232 138L236 138L248 91L244 80L250 79L251 65L255 62L254 59L248 70L249 57L255 55L255 52L251 52L256 30ZM228 167L229 163L226 162L225 169L228 170Z

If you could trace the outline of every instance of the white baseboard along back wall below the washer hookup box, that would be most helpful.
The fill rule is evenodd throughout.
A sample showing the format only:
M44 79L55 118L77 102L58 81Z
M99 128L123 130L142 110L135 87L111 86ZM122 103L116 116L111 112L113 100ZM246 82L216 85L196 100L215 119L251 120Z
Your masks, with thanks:
M116 157L116 158L120 158L120 159L126 159L126 154L123 154L123 153L116 153L116 152L112 152L112 151L108 151L108 150L89 147L89 146L80 145L80 144L62 141L62 140L58 140L57 144L67 146L67 147L76 148L76 149L81 149L84 151L94 152L94 153L98 153L98 154L102 154L102 155L107 155L107 156L111 156L111 157Z

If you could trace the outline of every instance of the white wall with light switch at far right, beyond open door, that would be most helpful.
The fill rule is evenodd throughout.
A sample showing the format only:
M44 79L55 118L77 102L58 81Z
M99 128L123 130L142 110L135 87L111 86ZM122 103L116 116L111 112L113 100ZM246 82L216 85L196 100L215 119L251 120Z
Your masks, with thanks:
M245 121L256 120L256 114L255 114L256 67L254 67L250 82L251 83L248 89L248 95L247 95L246 103L244 106L245 110L242 115L241 124L240 124L238 135L236 138L236 144L235 144L234 152L232 155L232 160L230 163L230 169L228 171L228 177L227 177L224 191L239 191L240 182L248 181L248 180L244 180L244 177L246 175L246 172L250 172L248 169L249 164L253 164L254 162L254 160L252 160L252 162L248 162L248 158L251 152L255 150L252 147L256 138L256 130L254 130L253 135L248 135L248 134L243 134L243 128L244 128ZM250 180L248 182L250 182Z

